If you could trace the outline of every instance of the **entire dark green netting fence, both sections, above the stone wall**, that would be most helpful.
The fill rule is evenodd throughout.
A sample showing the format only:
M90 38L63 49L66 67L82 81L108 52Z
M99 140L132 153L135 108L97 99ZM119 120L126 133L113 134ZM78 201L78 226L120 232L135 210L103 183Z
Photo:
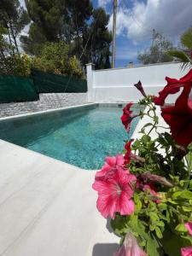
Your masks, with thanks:
M39 93L80 93L87 91L84 79L32 70L31 78L0 75L0 103L32 102Z

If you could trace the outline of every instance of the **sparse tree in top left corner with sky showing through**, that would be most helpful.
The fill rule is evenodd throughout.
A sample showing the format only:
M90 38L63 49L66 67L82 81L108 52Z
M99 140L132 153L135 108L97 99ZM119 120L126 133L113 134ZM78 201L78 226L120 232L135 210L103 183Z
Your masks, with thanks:
M20 7L19 0L0 0L0 23L7 29L9 44L15 46L17 54L20 54L17 38L29 21L26 10Z

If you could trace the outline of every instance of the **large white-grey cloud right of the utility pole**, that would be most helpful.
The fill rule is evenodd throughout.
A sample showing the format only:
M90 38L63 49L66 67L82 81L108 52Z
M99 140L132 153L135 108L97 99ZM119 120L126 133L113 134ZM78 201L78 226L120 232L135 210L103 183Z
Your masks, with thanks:
M178 38L192 26L191 0L148 0L147 3L132 3L132 9L126 9L125 6L119 8L117 34L123 34L133 42L152 38L153 29L168 38ZM112 29L112 25L113 16L110 17L109 29Z

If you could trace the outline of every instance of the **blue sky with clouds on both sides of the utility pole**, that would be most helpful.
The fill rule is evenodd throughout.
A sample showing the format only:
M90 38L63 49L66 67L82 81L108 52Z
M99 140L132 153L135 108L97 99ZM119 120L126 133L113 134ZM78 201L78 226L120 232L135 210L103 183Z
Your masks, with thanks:
M152 43L153 29L177 44L180 35L192 26L192 0L117 0L116 67L130 61L137 64L137 53ZM20 0L23 4L24 0ZM93 0L110 15L113 25L113 0Z

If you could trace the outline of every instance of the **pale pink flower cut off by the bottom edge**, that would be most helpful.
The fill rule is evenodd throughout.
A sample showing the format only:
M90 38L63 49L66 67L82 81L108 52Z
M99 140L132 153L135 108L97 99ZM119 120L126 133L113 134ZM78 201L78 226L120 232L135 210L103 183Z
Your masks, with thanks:
M113 256L147 256L137 244L137 239L131 233L127 233L123 245Z

